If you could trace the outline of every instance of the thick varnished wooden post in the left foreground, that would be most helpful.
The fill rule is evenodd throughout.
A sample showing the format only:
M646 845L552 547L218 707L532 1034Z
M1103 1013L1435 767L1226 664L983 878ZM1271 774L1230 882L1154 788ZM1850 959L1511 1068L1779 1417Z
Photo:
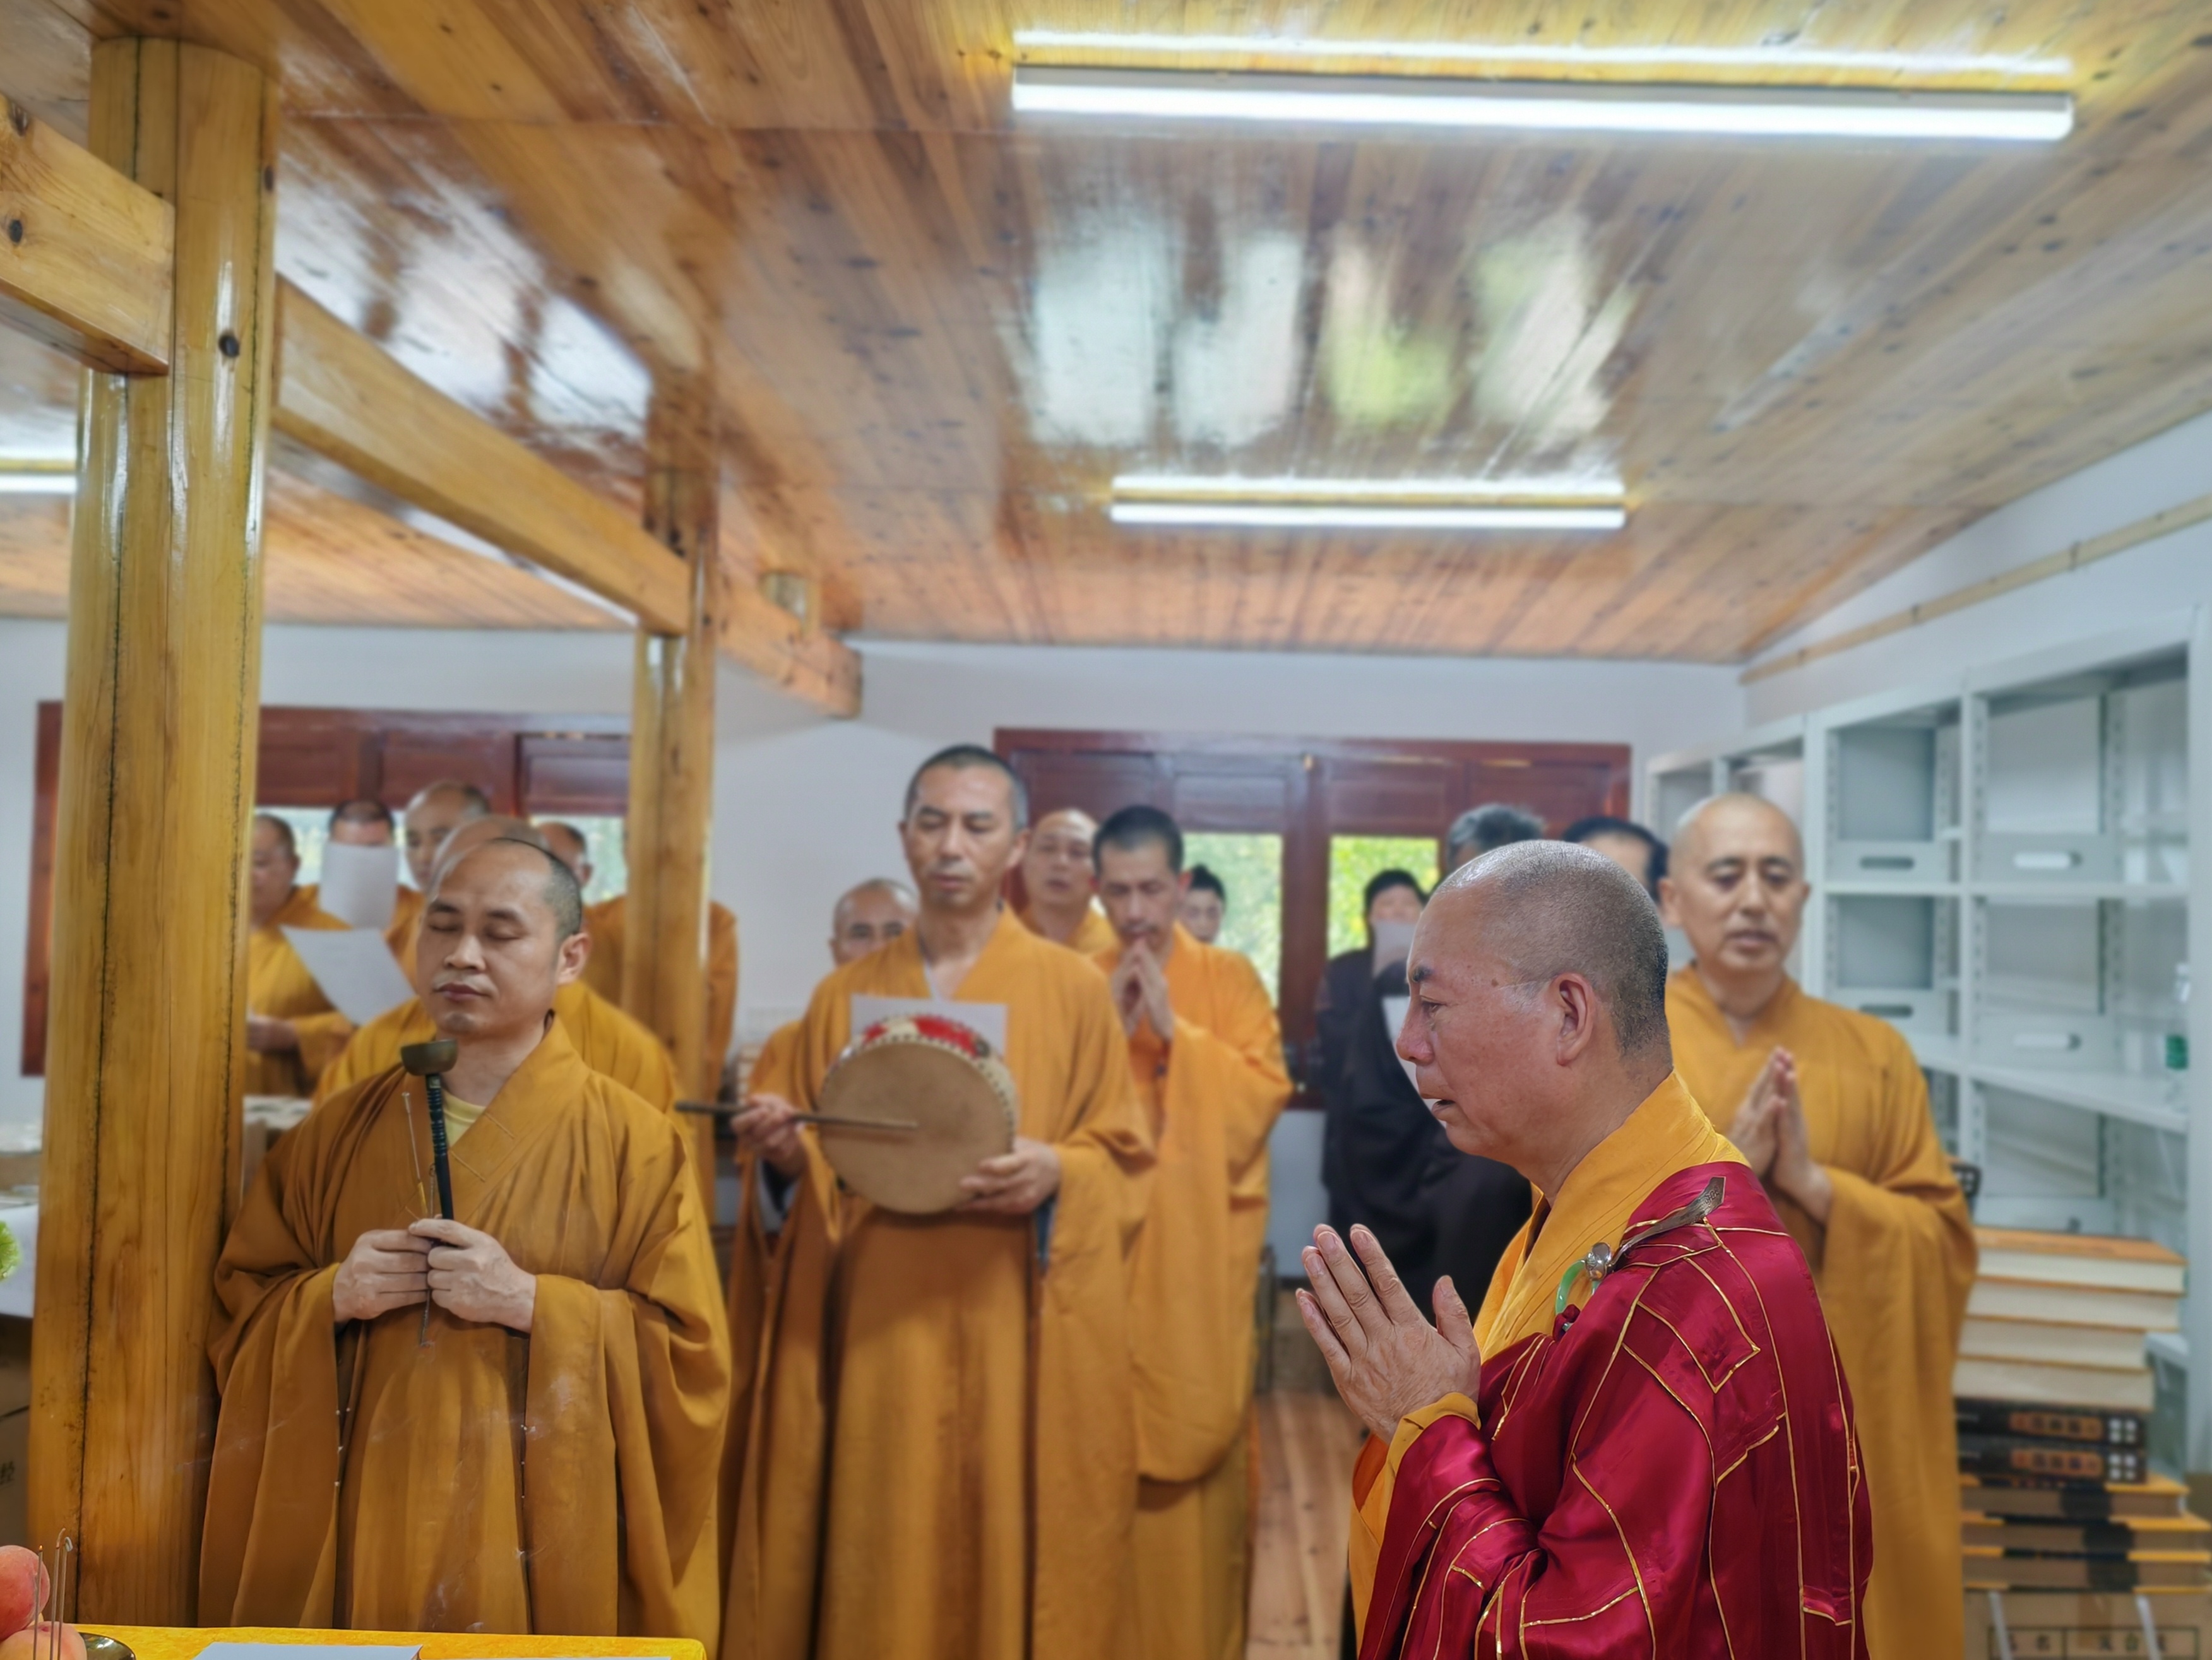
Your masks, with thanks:
M188 1625L246 1046L276 97L93 49L93 153L177 212L170 374L86 371L69 577L31 1527L86 1618Z

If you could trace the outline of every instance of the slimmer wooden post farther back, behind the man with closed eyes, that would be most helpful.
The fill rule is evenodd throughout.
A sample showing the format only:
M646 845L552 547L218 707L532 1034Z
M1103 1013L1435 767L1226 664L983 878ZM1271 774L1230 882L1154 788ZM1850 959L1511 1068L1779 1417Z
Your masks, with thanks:
M677 1088L710 1099L719 1054L706 1052L708 833L714 818L714 654L721 643L721 466L712 393L697 380L655 389L646 424L646 528L690 575L690 628L637 632L630 714L630 889L622 1004L659 1032ZM714 1214L714 1121L695 1121L708 1216Z

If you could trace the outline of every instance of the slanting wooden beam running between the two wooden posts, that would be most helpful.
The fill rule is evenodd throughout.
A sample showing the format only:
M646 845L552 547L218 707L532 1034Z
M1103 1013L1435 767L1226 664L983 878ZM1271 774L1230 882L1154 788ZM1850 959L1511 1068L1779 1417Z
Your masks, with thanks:
M690 626L684 561L604 495L409 374L290 283L276 290L276 431L403 502L582 584L641 628Z

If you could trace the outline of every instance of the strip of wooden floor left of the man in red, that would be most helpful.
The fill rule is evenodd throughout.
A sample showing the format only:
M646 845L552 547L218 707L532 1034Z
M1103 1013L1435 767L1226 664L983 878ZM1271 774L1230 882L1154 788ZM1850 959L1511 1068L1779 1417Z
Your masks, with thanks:
M1360 1423L1336 1399L1287 1297L1276 1317L1274 1355L1274 1388L1254 1397L1259 1527L1245 1660L1336 1660Z

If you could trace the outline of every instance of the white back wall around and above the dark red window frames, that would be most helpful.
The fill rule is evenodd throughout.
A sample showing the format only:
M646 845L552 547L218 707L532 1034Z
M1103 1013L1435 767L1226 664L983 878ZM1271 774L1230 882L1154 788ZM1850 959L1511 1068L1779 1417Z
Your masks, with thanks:
M0 619L0 1134L33 1123L18 1076L35 705L62 694L62 626ZM1316 738L1630 743L1646 756L1741 721L1734 672L1668 663L1117 652L860 641L867 707L827 721L721 676L714 897L743 931L743 1028L801 1006L827 966L830 904L898 873L907 774L1000 725ZM268 703L624 714L626 634L270 628Z

